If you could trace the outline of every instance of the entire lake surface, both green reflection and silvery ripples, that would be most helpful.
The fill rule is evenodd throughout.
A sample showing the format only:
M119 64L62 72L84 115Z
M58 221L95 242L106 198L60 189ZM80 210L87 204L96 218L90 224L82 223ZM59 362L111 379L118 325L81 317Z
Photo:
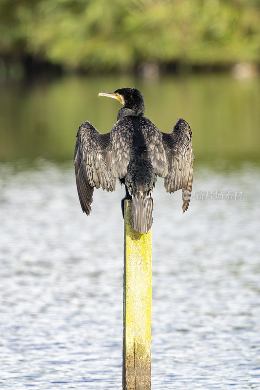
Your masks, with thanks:
M259 80L135 81L161 130L190 122L196 156L184 215L180 191L153 193L152 388L260 389ZM115 121L98 92L126 82L3 86L1 389L121 389L124 191L83 215L71 158L83 120Z

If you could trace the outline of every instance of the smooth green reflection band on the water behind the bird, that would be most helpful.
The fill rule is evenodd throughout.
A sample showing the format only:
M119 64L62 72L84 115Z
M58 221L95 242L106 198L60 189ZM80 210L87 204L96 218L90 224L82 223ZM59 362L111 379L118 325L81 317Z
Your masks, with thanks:
M160 130L171 130L178 117L190 123L197 161L259 161L260 80L228 76L167 76L153 82L126 76L71 77L30 86L4 84L1 159L71 159L81 122L88 119L107 132L116 121L120 103L98 98L98 93L132 85L142 91L146 116Z

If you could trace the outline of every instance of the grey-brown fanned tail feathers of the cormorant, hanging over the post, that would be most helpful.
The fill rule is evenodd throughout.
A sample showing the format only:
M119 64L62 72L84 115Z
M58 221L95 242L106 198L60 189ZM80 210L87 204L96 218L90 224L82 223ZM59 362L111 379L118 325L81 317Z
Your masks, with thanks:
M133 229L146 234L153 223L151 193L132 194L131 221Z

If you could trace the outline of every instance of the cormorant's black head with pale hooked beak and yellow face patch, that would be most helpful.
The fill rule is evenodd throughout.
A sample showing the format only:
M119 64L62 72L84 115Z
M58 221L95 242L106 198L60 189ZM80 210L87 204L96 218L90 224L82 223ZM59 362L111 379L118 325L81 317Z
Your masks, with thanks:
M120 101L127 108L124 110L125 115L133 115L143 117L144 115L144 100L140 91L136 88L120 88L115 92L100 92L99 96L107 96ZM123 111L121 109L120 111Z

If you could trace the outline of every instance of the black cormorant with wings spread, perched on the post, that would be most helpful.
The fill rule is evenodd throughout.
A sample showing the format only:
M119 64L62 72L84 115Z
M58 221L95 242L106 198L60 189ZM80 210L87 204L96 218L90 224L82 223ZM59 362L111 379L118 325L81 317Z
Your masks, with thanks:
M189 206L194 160L190 126L179 118L169 134L160 132L144 117L144 100L135 88L99 96L117 99L124 107L109 133L100 134L88 121L80 125L74 164L82 211L89 215L94 187L115 191L118 177L125 185L124 199L132 199L133 228L147 233L153 221L151 193L157 175L164 177L167 192L182 189L183 213Z

